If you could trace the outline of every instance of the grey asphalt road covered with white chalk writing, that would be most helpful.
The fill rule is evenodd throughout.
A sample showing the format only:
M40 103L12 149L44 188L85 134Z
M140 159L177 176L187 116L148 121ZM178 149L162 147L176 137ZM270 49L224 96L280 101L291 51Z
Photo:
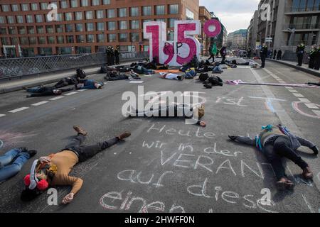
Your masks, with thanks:
M93 78L103 81L103 76ZM271 62L265 70L244 66L225 70L220 77L273 83L319 80ZM81 177L84 184L68 205L60 202L70 187L58 187L58 206L48 205L49 194L30 203L19 200L29 161L16 177L0 184L0 211L319 212L320 162L311 150L303 148L300 153L314 170L314 181L305 182L299 167L288 161L287 175L296 187L278 192L265 157L255 148L228 141L230 134L254 137L261 126L283 123L320 145L319 89L228 84L205 89L195 80L178 82L160 79L159 74L142 80L142 84L108 82L104 89L65 94L57 100L51 96L26 99L23 91L1 94L0 140L4 144L0 154L20 146L38 150L36 157L56 153L75 135L75 124L88 131L86 144L123 131L131 131L132 136L76 165L72 175ZM186 125L180 118L124 117L122 94L137 94L139 86L144 86L144 93L200 92L207 127ZM262 189L270 189L270 203L261 202Z

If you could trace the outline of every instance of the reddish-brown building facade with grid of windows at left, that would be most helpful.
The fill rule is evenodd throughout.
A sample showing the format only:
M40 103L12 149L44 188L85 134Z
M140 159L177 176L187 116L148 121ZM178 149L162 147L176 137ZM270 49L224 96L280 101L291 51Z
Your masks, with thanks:
M50 13L52 4L56 14ZM166 22L171 39L174 21L198 19L198 8L198 0L1 0L1 53L60 55L103 52L106 46L147 51L144 22Z

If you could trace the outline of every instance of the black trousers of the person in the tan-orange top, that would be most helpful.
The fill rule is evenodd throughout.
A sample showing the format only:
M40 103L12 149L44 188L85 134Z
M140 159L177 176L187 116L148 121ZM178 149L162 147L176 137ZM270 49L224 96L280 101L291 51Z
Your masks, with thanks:
M82 145L85 140L85 136L79 134L71 142L65 146L64 150L71 150L78 153L79 162L84 162L100 153L100 151L110 148L112 145L119 142L119 138L111 138L102 143L97 143L95 145Z

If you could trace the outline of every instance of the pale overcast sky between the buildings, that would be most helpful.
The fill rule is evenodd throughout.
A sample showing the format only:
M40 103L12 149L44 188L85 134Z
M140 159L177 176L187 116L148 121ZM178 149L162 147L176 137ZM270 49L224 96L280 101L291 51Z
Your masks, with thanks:
M246 29L260 0L200 0L200 6L206 6L220 18L228 33Z

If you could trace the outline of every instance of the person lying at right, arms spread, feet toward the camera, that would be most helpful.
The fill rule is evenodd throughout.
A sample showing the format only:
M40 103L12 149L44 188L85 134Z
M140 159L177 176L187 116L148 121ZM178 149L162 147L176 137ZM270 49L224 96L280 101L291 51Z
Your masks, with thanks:
M313 150L315 155L318 155L319 149L310 141L293 135L282 125L262 127L262 131L255 139L235 135L229 135L229 138L238 143L256 146L262 151L272 165L279 189L292 189L294 187L292 181L285 174L282 157L287 157L302 168L304 178L311 179L313 177L309 165L302 160L297 153L297 149L303 145Z

